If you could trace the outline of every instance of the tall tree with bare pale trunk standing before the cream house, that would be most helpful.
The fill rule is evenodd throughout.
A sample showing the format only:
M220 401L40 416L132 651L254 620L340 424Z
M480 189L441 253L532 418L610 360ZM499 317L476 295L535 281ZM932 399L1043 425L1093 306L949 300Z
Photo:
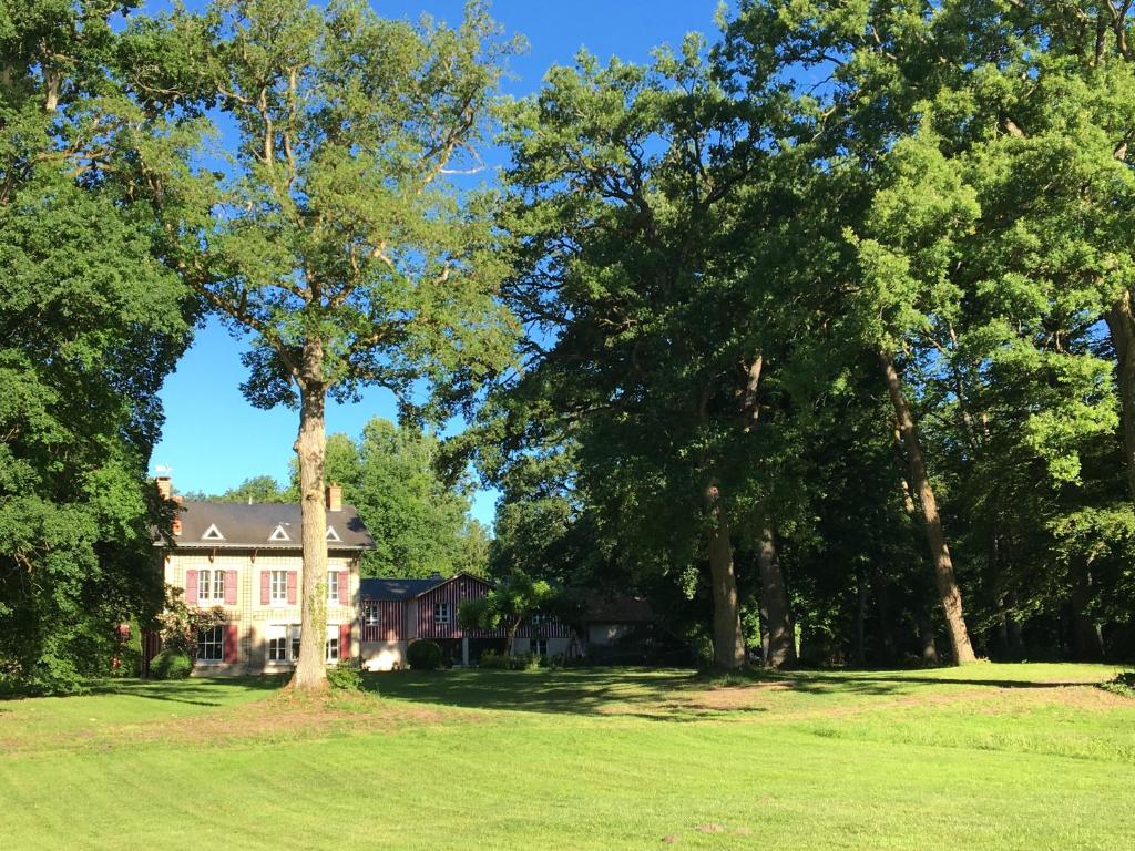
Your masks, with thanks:
M169 222L182 235L173 260L253 335L246 397L299 408L303 638L292 684L320 689L327 397L378 385L404 413L442 418L510 355L493 195L453 177L479 167L513 45L478 3L451 28L351 0L217 2L175 14L154 37L170 58L153 87L183 85L235 126L215 183L162 187L213 212L200 227Z

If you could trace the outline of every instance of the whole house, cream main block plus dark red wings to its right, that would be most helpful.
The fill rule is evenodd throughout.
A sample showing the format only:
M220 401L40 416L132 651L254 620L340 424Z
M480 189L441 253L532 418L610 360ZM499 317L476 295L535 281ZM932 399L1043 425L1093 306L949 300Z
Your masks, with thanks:
M283 673L300 651L300 587L303 548L299 505L180 500L168 477L159 492L178 504L173 540L155 538L166 583L183 589L185 601L216 608L224 623L203 630L196 641L194 673L204 676ZM462 630L457 607L484 597L488 581L468 573L429 579L360 579L363 553L375 541L342 489L327 488L328 665L359 659L369 671L407 666L406 649L417 639L442 647L447 664L476 664L486 649L501 650L505 631ZM573 656L585 644L619 642L653 620L639 598L589 596L582 622L572 625L537 614L516 632L511 652ZM146 639L146 663L160 649Z

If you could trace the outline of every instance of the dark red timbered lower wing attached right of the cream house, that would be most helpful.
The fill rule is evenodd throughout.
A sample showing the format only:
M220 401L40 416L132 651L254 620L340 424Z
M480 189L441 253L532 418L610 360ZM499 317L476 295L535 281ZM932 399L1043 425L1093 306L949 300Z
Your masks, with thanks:
M360 583L361 662L369 671L406 666L406 648L415 639L442 647L448 664L470 665L486 649L503 649L504 630L462 630L457 607L484 597L493 585L468 573L445 579L364 579ZM578 644L574 631L553 617L536 615L516 632L511 651L556 656Z

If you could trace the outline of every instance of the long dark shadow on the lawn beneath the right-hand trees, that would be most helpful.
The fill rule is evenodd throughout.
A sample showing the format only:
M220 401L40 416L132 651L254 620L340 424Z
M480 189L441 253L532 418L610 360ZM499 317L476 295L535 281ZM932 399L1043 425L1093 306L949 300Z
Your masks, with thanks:
M365 674L368 689L384 697L470 709L621 715L650 721L696 722L770 711L765 707L700 707L684 698L721 689L773 686L812 696L916 694L920 686L1052 689L1084 681L1012 680L902 674L896 672L783 673L753 671L709 675L692 671L569 668L564 671L437 671Z

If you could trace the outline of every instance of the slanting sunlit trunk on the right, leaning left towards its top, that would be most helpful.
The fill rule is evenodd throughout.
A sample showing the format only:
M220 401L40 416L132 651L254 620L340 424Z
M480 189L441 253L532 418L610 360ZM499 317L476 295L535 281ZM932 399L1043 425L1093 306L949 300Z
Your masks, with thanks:
M894 405L899 432L902 435L910 481L918 494L918 500L922 503L923 519L926 522L926 542L930 546L931 564L934 566L934 579L938 583L942 612L945 615L945 626L950 635L953 660L957 665L964 665L974 662L976 657L973 646L969 643L969 633L966 631L966 620L961 610L961 592L958 590L958 582L953 575L953 562L950 558L950 548L945 544L942 519L938 513L938 500L934 498L934 489L931 487L930 475L926 472L926 462L923 458L910 406L902 393L899 373L894 369L894 359L884 351L880 351L878 359L886 377L891 402Z

